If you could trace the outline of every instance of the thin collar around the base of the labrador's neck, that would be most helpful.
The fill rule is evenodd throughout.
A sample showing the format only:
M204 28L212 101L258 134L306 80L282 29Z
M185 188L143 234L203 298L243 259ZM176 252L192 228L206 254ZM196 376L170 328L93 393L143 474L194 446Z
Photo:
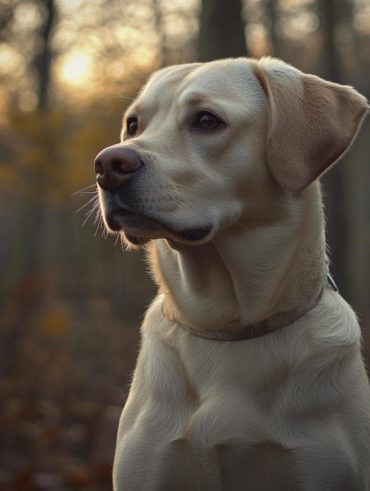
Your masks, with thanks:
M176 322L189 334L197 336L198 338L209 339L212 341L243 341L246 339L258 338L282 329L283 327L296 322L298 319L306 315L310 310L316 307L316 305L320 302L324 291L328 289L335 292L338 291L337 285L329 272L326 275L326 283L321 288L319 294L310 302L306 303L303 307L296 307L287 312L279 312L266 320L238 327L238 329L217 331L204 329L200 330L193 326L185 325L178 321Z

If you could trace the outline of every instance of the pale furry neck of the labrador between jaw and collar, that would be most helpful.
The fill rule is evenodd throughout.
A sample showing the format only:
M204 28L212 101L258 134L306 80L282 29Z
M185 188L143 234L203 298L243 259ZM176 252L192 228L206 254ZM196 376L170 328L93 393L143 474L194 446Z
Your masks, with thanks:
M254 226L241 219L202 246L155 241L152 269L166 317L214 331L312 303L326 277L319 186L289 199L284 219Z

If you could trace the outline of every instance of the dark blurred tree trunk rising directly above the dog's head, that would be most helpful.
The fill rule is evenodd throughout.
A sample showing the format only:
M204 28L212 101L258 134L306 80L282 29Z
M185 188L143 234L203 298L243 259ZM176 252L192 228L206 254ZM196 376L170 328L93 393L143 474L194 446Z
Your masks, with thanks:
M247 56L241 0L202 0L198 59Z

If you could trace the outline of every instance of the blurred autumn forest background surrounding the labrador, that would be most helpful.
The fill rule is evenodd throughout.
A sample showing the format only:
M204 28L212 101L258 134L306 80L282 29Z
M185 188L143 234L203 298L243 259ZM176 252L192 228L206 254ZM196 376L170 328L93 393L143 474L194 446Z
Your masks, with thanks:
M94 156L156 68L263 55L369 97L370 1L0 0L0 491L111 489L154 288L84 207ZM370 120L324 179L332 271L366 356L369 154Z

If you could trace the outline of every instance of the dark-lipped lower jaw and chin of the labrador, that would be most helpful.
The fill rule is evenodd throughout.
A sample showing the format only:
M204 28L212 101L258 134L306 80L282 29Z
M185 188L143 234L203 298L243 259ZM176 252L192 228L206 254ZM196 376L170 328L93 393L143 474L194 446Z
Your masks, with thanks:
M105 216L110 232L120 233L132 246L143 246L153 239L167 239L170 244L204 244L212 235L211 225L175 228L162 220L126 210L116 210Z

